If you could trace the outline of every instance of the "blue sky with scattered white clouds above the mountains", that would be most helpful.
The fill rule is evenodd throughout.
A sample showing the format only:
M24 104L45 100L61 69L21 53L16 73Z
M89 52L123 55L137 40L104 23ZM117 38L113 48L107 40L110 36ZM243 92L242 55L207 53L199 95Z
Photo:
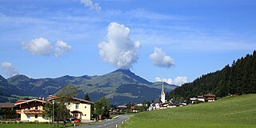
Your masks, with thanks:
M256 49L254 0L0 0L0 74L182 85Z

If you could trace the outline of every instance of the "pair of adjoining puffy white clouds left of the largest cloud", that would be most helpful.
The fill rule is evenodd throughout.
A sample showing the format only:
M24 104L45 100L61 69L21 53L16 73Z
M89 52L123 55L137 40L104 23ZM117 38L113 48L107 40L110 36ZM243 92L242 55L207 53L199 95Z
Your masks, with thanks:
M66 42L58 40L55 47L46 38L34 38L30 42L22 42L22 49L28 50L31 54L60 57L65 52L72 50Z

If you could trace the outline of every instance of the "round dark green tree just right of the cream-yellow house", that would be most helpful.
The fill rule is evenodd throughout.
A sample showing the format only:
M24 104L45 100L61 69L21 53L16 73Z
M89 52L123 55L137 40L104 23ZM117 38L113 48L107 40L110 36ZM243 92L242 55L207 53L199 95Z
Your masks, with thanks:
M95 114L102 115L103 118L110 118L110 102L107 98L102 97L94 104Z

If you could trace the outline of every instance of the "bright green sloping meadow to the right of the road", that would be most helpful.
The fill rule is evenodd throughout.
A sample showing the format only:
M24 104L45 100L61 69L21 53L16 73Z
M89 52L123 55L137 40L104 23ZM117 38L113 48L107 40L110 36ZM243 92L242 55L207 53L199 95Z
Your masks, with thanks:
M255 128L256 94L226 97L216 102L135 114L122 128Z

